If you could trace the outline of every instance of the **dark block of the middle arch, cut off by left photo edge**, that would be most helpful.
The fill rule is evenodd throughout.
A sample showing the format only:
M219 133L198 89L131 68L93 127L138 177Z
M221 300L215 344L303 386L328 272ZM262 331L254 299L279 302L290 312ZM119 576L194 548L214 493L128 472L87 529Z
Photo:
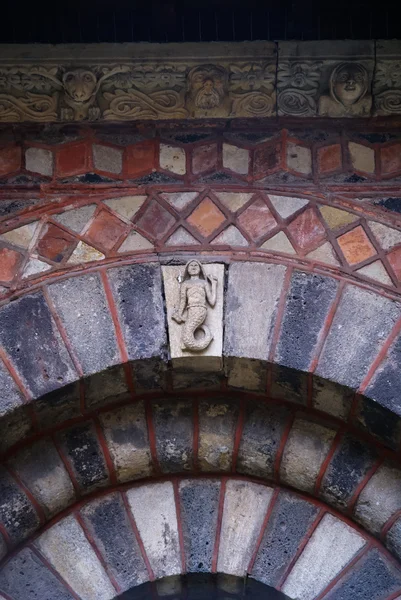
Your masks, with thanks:
M0 521L13 544L22 542L38 527L39 518L21 488L0 467Z

